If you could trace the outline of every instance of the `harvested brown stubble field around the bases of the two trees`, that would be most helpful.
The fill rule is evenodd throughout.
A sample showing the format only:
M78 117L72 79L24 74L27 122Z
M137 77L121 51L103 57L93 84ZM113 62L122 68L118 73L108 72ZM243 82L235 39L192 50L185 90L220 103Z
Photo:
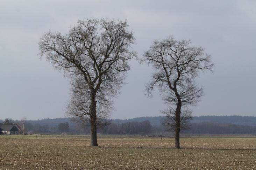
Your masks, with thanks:
M256 169L255 137L0 136L0 170Z

